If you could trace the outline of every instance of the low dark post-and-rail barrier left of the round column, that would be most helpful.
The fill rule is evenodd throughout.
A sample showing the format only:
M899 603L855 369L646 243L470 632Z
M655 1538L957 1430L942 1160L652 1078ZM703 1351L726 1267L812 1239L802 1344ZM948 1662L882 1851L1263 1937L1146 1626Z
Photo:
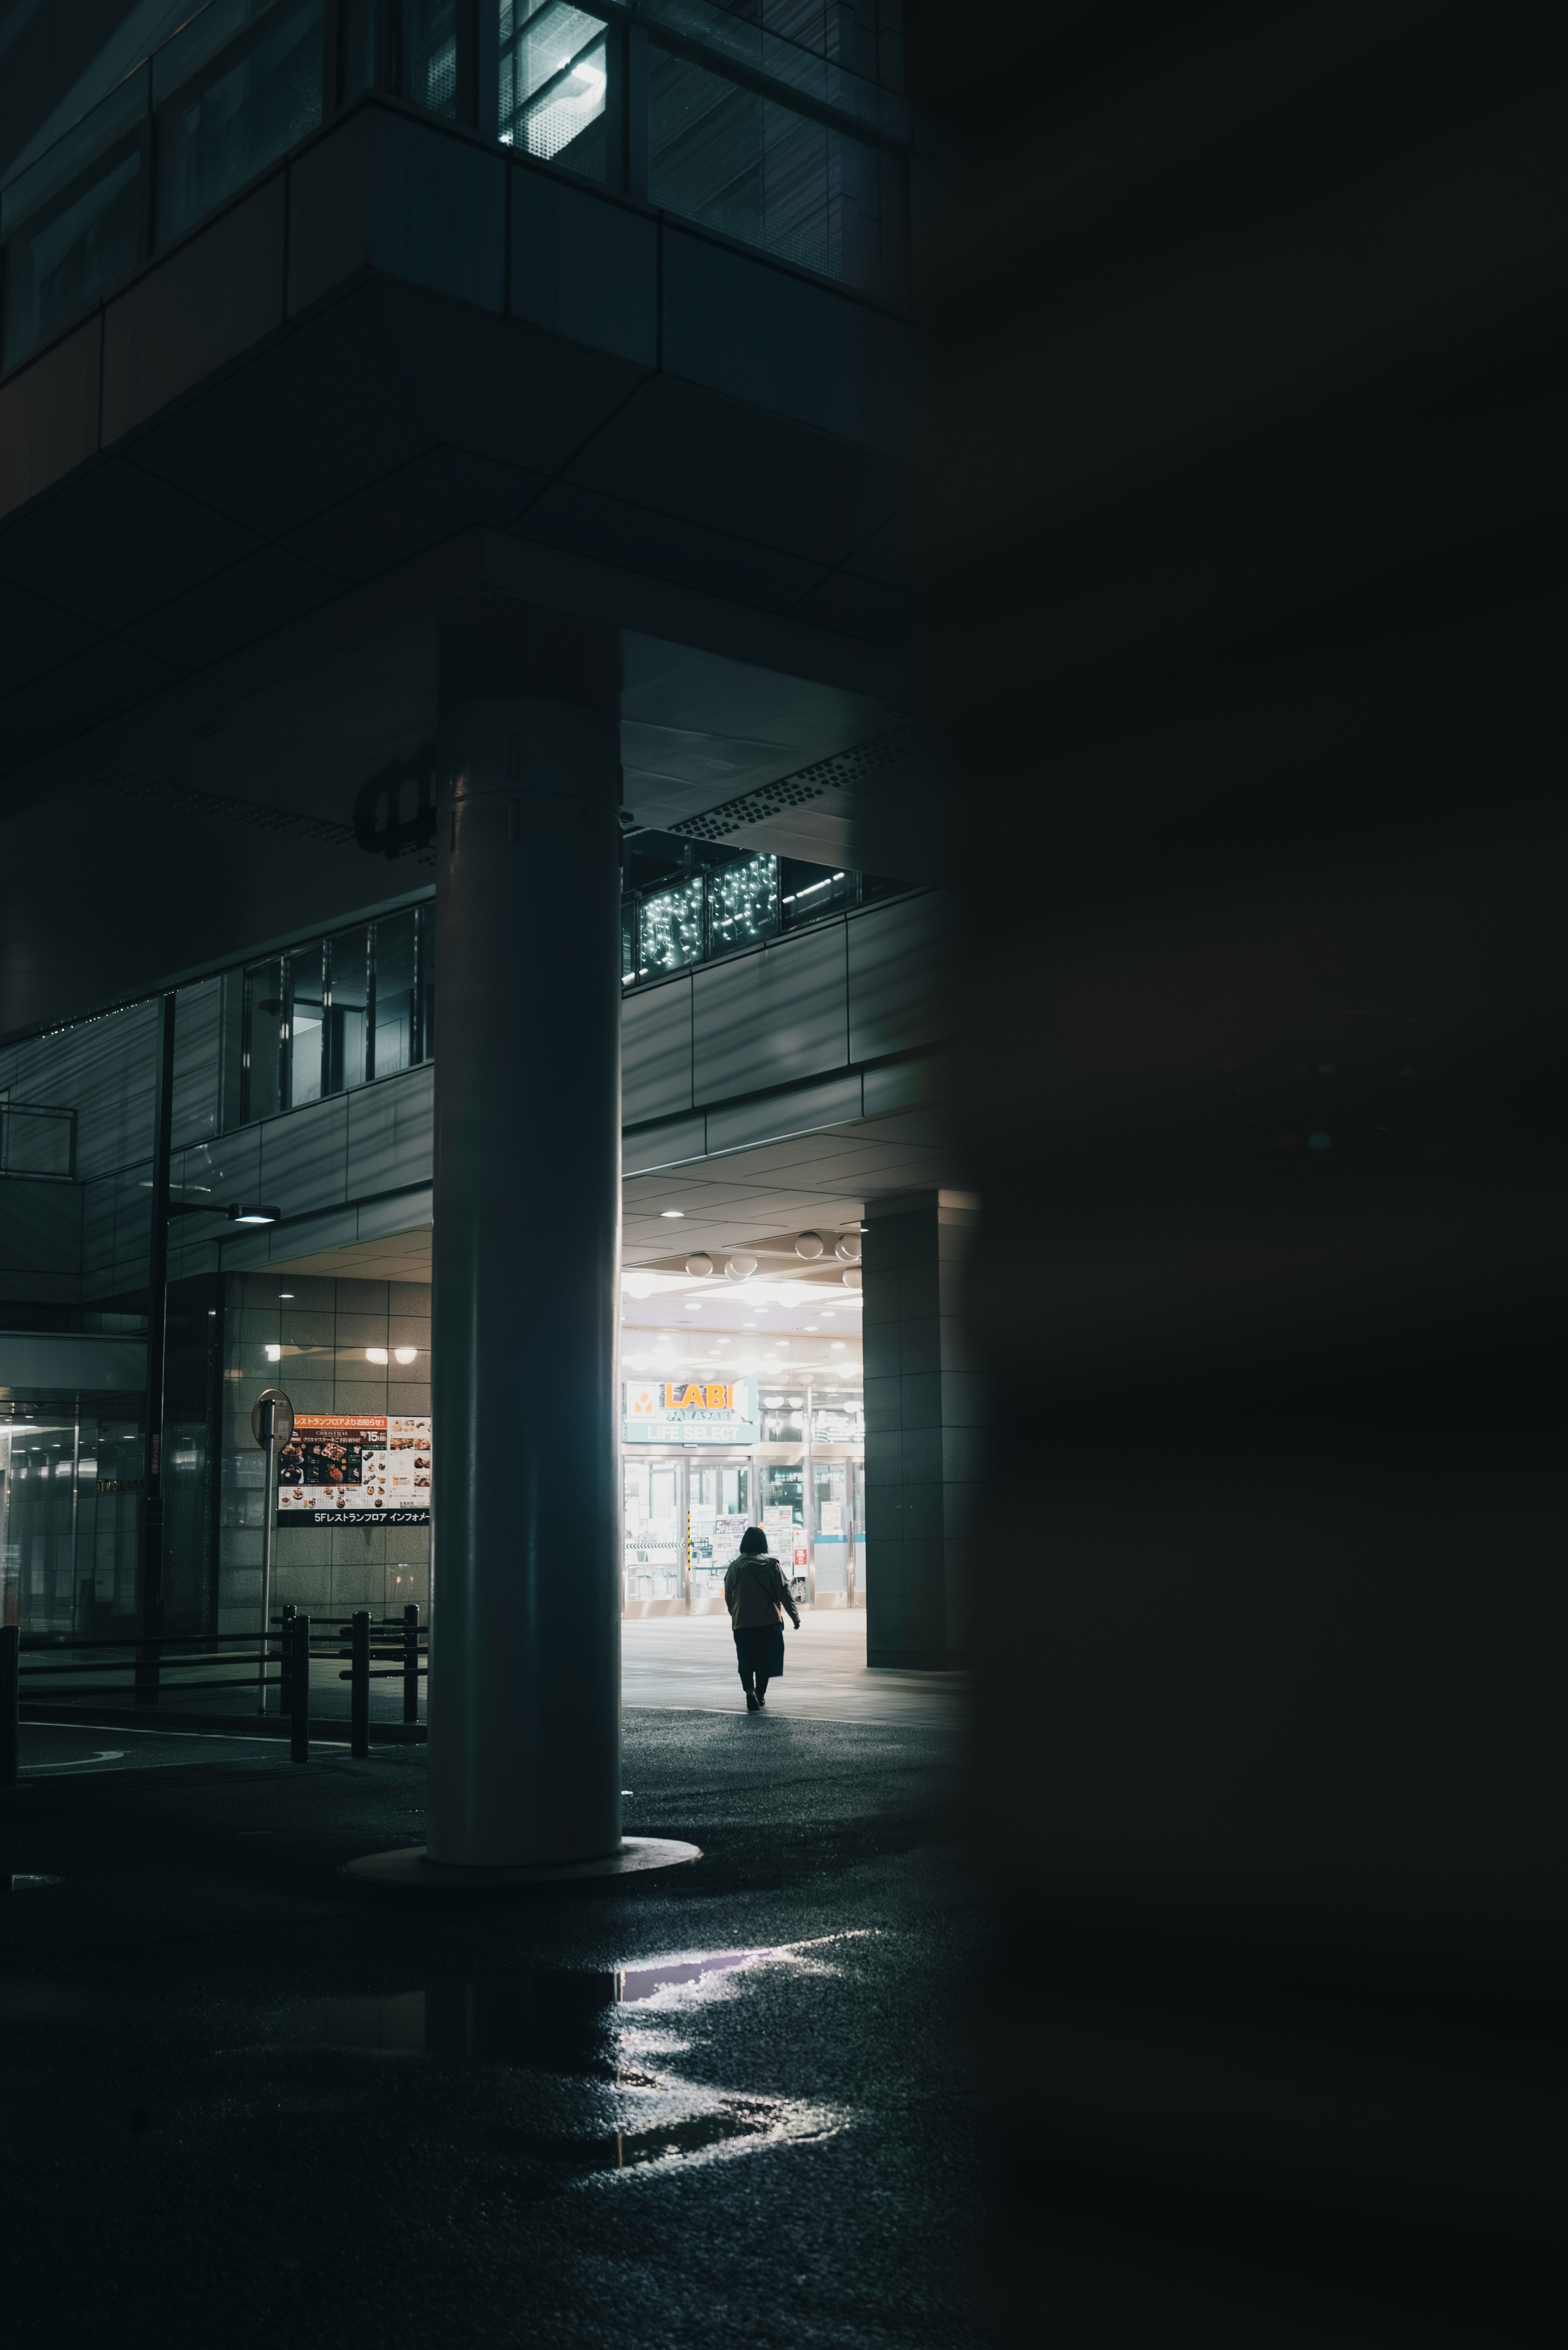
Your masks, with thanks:
M388 1636L395 1633L395 1640ZM343 1640L348 1638L348 1645ZM310 1760L310 1661L346 1661L348 1671L339 1680L348 1683L348 1751L369 1755L369 1685L371 1680L402 1680L402 1727L418 1723L418 1676L428 1661L430 1629L418 1622L418 1607L404 1607L402 1617L371 1622L369 1607L343 1619L313 1624L296 1607L284 1607L273 1626L252 1643L214 1633L134 1633L120 1640L49 1640L35 1661L35 1652L21 1647L16 1624L0 1626L0 1786L16 1786L19 1720L24 1683L71 1678L73 1690L61 1690L61 1699L82 1694L85 1673L129 1676L120 1685L103 1685L103 1697L132 1697L136 1706L158 1704L160 1697L205 1697L212 1690L256 1690L259 1711L266 1711L266 1692L277 1690L277 1713L289 1725L289 1758ZM56 1661L61 1652L89 1650L73 1661ZM125 1654L103 1657L103 1650ZM212 1666L244 1664L249 1671L230 1678L209 1678ZM277 1666L268 1671L268 1666ZM205 1666L205 1673L195 1668ZM179 1680L167 1676L181 1676ZM45 1697L47 1692L38 1692ZM179 1718L179 1716L176 1716ZM247 1716L235 1716L235 1725ZM317 1723L320 1734L320 1723ZM390 1732L383 1732L390 1734Z

